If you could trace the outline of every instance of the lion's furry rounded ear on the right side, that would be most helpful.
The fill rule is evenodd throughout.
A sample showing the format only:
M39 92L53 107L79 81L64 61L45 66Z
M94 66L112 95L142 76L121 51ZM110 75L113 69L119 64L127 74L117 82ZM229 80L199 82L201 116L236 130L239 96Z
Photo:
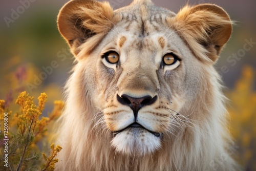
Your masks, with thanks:
M219 6L186 6L174 18L174 27L201 60L216 61L232 32L228 14Z

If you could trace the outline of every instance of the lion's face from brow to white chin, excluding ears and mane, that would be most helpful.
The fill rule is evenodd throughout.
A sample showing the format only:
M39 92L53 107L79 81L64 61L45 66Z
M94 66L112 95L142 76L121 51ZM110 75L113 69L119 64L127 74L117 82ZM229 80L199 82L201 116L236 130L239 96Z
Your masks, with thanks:
M116 25L100 44L100 53L88 58L96 69L85 68L94 72L86 75L96 75L92 96L97 97L95 103L101 101L97 107L103 109L112 145L123 153L143 155L154 152L164 136L175 133L174 117L184 103L192 102L199 87L197 78L185 79L190 75L186 70L196 70L199 62L174 30L164 32L168 27L159 23L164 34L151 28L143 35L137 29L140 24L126 24L133 25L129 33L122 31L125 24ZM150 22L146 25L151 27ZM189 63L194 66L186 68ZM184 84L194 87L193 91L180 86Z

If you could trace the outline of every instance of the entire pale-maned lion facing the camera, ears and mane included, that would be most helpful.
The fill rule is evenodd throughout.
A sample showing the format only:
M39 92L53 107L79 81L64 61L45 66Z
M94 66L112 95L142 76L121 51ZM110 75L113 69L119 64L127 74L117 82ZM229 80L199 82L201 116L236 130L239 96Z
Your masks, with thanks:
M58 29L74 54L57 170L236 170L215 69L232 32L213 4L73 0Z

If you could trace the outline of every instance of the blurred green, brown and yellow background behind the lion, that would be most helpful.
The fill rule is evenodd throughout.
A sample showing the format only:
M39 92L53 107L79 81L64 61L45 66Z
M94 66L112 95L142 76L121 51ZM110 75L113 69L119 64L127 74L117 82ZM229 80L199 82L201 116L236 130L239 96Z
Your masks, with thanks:
M12 110L13 99L27 91L38 97L46 92L46 112L53 101L61 100L62 87L72 68L73 56L57 30L56 17L67 0L2 1L0 6L0 99ZM114 9L131 0L110 0ZM213 3L223 7L236 21L232 37L221 54L216 69L222 75L224 91L230 99L230 132L237 150L237 160L244 170L256 170L256 2L199 0L155 1L178 12L185 4Z

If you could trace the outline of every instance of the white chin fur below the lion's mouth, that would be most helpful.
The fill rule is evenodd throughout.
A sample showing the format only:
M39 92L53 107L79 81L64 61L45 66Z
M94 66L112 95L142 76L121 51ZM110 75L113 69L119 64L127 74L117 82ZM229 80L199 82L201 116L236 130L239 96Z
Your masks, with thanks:
M129 128L118 133L111 141L118 152L124 154L146 155L161 146L160 137L141 128Z

